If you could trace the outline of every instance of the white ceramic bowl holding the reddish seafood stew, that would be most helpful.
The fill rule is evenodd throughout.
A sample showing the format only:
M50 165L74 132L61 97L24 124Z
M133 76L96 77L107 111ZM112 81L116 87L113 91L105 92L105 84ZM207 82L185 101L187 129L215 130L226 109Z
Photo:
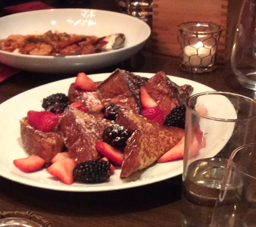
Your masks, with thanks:
M0 18L0 39L5 39L10 34L43 34L49 30L97 37L123 33L126 36L126 42L121 49L65 58L25 55L0 50L0 62L32 72L87 72L130 58L143 47L151 32L150 27L137 18L103 10L38 10Z

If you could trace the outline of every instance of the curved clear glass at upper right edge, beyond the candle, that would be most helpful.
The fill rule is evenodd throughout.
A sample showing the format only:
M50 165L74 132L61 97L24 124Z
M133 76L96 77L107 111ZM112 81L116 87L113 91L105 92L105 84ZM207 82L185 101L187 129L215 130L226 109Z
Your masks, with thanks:
M244 0L238 19L231 66L238 82L256 90L256 4L255 0Z

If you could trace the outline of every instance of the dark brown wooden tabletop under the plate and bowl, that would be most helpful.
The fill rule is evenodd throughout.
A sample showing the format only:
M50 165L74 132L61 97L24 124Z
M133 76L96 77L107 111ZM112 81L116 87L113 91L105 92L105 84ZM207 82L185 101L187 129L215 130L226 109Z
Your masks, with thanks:
M117 10L115 0L88 0L78 6L60 4L60 1L44 2L54 7ZM253 91L238 84L230 62L217 65L217 70L210 74L187 74L179 70L178 58L153 54L149 51L149 46L150 42L127 61L89 73L110 73L116 68L146 73L162 70L168 75L197 81L216 90L231 91L252 98L255 96ZM31 88L73 76L75 75L17 73L0 83L0 103ZM125 190L72 193L33 188L0 176L0 211L34 212L48 219L54 227L180 226L181 182L181 176L177 176L148 186Z

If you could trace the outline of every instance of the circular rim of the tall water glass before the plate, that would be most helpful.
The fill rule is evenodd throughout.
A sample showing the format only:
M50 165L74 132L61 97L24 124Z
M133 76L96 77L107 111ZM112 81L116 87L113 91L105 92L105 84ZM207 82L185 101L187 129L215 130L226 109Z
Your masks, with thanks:
M213 94L216 94L216 95L225 95L226 94L226 95L241 97L244 100L247 100L247 101L250 101L250 102L254 103L255 108L256 108L256 101L254 101L252 98L244 96L244 95L239 95L239 94L236 94L236 93L226 92L226 91L205 91L205 92L202 92L202 93L197 93L197 94L192 95L188 98L188 100L185 102L185 107L188 108L194 115L197 115L199 117L209 119L209 120L216 120L218 122L241 122L243 120L256 118L256 113L254 115L250 116L250 117L245 117L245 118L240 118L240 119L239 118L231 118L231 119L229 119L229 118L217 118L217 117L206 116L206 115L203 115L202 113L198 113L195 109L192 109L190 107L189 102L193 98L203 96L203 95L213 95Z

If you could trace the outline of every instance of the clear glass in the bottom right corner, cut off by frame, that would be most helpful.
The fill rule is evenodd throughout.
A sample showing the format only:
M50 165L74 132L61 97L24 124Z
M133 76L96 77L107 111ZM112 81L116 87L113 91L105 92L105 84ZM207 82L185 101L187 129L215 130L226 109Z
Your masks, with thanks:
M256 144L233 151L212 216L212 227L256 226Z

